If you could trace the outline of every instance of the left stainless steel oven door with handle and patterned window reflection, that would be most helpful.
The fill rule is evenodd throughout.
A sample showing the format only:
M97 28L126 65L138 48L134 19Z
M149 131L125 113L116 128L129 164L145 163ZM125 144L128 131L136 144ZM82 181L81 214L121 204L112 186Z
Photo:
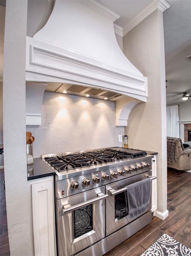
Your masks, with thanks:
M70 256L105 236L105 186L57 200L58 255Z

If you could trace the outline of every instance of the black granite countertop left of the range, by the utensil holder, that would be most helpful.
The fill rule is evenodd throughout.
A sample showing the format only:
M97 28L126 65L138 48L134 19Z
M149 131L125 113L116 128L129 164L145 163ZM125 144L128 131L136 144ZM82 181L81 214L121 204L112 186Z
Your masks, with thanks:
M34 158L34 163L27 165L27 180L34 180L55 175L55 171L41 158Z

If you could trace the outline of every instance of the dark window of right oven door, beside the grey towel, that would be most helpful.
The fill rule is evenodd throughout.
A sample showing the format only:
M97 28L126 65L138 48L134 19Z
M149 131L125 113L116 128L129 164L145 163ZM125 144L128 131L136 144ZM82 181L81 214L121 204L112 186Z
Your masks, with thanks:
M129 214L127 191L115 195L115 219L121 218Z

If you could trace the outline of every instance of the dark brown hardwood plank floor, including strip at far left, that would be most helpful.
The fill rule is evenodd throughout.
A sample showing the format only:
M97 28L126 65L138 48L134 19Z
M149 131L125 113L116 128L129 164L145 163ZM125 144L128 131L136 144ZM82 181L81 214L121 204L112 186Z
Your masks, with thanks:
M9 256L9 240L4 191L4 171L0 170L0 255ZM163 233L191 248L191 173L167 171L167 208L164 220L153 217L152 222L115 247L105 256L139 256Z

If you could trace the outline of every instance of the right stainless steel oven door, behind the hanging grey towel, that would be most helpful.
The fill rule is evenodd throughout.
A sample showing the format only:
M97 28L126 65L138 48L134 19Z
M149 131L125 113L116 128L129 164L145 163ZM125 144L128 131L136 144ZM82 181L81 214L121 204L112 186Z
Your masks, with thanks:
M113 233L133 220L129 217L126 186L146 179L151 173L152 171L148 171L106 186L106 194L109 195L106 200L106 235ZM146 212L150 209L151 196Z

